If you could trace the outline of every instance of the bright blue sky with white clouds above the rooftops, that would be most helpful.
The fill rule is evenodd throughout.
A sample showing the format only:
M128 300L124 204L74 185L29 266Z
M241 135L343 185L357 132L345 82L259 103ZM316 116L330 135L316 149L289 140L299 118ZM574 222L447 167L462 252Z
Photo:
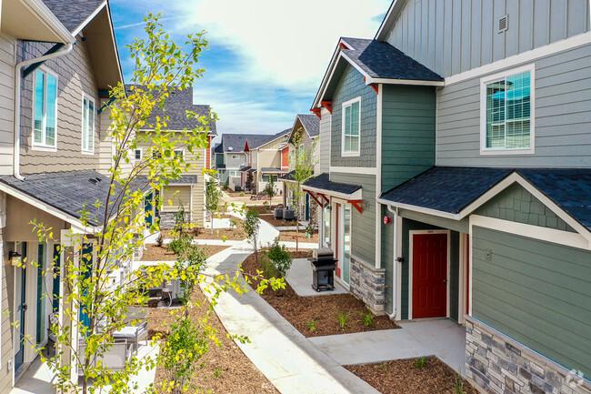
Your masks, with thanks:
M340 36L373 38L391 0L111 0L126 80L125 45L143 16L161 13L177 42L207 32L207 70L195 104L210 104L218 132L274 134L309 113Z

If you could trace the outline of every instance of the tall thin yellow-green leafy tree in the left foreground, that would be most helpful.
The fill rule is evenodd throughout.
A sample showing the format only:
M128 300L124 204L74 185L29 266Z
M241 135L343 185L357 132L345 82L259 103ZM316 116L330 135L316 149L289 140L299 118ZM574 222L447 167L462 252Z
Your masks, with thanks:
M122 269L126 262L133 260L136 248L143 247L145 196L152 191L162 191L171 181L195 167L194 162L185 161L184 156L175 156L175 149L183 148L196 154L198 149L205 148L206 125L215 119L215 115L196 116L187 111L187 117L195 119L198 126L169 132L167 116L151 116L156 108L164 107L173 89L192 86L205 72L196 66L199 55L207 47L203 34L188 35L182 47L170 40L159 18L159 15L146 16L146 38L135 38L133 44L128 45L135 62L132 87L125 91L125 86L119 84L110 93L112 101L108 106L112 125L108 136L113 142L114 154L105 196L97 196L92 207L85 207L83 226L77 232L70 229L67 237L55 239L51 227L36 220L31 222L40 242L60 243L65 248L60 275L64 292L57 298L60 319L51 327L57 338L56 356L45 358L35 338L28 338L32 348L55 372L55 386L60 393L101 392L107 385L114 394L137 392L137 385L132 382L138 371L154 368L156 362L165 359L140 359L135 355L125 369L113 370L106 365L105 354L114 347L112 333L125 328L125 318L131 318L132 324L139 322L129 314L128 306L145 306L148 296L145 289L157 288L163 281L205 279L198 265L192 268L147 267L125 275L123 283L115 285L109 277L110 272ZM146 129L153 131L141 132ZM132 160L128 155L138 146L142 146L146 154L141 160ZM162 202L156 204L160 208ZM150 232L154 233L157 226L154 221ZM53 269L50 266L45 274L53 275ZM238 274L234 278L211 279L217 282L214 283L215 295L226 288L235 288L239 293L245 291L246 285L238 282ZM281 283L272 282L272 286L281 287ZM54 298L47 293L42 297ZM195 324L199 324L198 328L208 337L215 338L215 330L210 328L206 317ZM180 324L179 327L185 326ZM81 390L78 389L79 374Z

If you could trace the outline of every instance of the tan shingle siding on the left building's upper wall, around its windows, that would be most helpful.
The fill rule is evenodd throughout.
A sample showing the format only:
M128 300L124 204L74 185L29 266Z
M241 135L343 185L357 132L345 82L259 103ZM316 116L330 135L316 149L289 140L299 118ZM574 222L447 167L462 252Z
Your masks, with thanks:
M42 56L52 45L45 43L19 42L18 53L22 60ZM99 106L95 76L84 41L78 40L71 53L48 60L45 69L57 76L57 129L56 152L33 150L33 74L24 79L21 112L21 172L71 171L98 169L99 139L98 116L95 116L95 153L82 154L82 106L83 93Z

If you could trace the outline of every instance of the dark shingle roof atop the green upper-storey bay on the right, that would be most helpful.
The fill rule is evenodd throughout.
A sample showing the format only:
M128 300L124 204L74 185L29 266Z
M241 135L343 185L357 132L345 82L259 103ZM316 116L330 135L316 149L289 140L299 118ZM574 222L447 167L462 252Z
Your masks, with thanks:
M363 69L368 76L419 81L444 80L388 43L361 38L343 37L342 39L346 44L353 46L350 49L343 49L342 54Z

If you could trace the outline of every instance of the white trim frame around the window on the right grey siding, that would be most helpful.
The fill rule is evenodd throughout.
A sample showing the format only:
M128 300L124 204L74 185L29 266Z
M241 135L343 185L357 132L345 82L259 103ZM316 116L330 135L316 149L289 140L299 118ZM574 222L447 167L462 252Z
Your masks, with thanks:
M486 85L504 79L507 76L516 76L529 72L529 147L526 148L490 148L486 147ZM506 132L506 130L505 130ZM536 65L512 68L493 76L480 78L480 155L533 155L536 153Z

